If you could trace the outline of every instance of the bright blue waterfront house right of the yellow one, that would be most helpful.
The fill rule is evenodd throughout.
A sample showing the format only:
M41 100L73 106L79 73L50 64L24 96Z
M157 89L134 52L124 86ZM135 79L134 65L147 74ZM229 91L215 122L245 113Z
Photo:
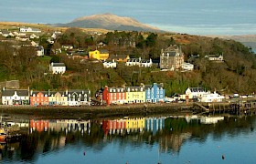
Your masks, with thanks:
M164 84L154 83L153 85L145 85L145 102L157 103L164 102L165 89Z

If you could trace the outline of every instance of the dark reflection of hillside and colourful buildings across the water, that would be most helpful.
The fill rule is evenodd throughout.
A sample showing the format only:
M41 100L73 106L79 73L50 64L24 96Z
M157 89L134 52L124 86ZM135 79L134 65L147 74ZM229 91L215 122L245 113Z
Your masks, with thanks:
M0 145L0 159L5 162L37 162L42 155L48 157L71 148L86 148L83 155L89 156L112 148L113 143L122 149L147 146L144 148L147 151L157 147L158 157L159 154L178 156L186 142L205 143L209 136L221 139L236 138L240 133L249 135L253 132L255 117L31 119L13 123L22 126L18 131L22 138Z

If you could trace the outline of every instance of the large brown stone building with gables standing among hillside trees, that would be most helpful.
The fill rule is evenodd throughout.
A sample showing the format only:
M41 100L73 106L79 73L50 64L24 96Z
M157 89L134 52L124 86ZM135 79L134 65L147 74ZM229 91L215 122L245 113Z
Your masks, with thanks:
M184 53L180 46L169 46L165 50L162 49L160 55L160 68L176 70L180 69L184 63Z

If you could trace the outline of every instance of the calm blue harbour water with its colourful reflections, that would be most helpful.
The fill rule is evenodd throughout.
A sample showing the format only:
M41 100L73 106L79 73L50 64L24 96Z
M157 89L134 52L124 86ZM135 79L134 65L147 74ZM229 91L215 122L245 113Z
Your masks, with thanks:
M255 163L255 121L195 116L16 120L12 124L23 138L2 143L1 162Z

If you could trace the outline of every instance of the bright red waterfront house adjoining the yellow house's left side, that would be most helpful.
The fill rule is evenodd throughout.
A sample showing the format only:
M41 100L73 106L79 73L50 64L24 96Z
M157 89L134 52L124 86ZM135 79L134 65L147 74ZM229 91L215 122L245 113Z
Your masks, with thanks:
M124 104L126 102L126 92L124 87L104 87L102 94L103 104Z

